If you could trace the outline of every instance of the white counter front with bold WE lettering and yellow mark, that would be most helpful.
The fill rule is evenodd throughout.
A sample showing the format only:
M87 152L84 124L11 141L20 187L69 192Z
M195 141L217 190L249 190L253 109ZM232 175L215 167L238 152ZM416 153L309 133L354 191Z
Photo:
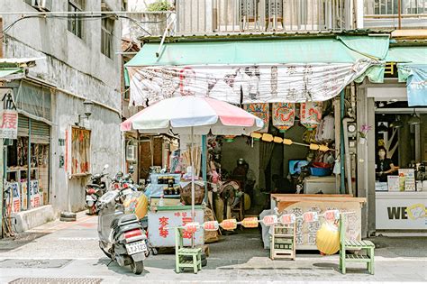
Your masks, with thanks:
M398 193L397 193L398 194ZM427 229L427 195L423 193L388 193L376 199L377 230L425 230ZM411 194L411 197L402 195ZM394 197L395 196L395 197ZM393 197L393 198L392 198Z

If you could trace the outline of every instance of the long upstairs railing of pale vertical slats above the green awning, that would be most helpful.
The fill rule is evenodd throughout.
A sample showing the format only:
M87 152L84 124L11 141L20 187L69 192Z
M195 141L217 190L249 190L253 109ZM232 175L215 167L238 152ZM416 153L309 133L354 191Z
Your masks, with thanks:
M351 28L351 0L178 0L177 33L316 32Z

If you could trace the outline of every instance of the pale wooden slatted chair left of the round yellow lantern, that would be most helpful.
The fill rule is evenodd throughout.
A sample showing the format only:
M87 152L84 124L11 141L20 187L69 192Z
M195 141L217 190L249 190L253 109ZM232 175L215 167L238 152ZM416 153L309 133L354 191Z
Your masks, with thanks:
M275 224L272 232L270 258L295 260L295 224Z

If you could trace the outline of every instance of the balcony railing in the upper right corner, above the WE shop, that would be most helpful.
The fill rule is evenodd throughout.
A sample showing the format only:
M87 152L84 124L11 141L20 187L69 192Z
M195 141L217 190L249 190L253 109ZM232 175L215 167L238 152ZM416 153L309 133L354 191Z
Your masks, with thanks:
M427 28L427 0L364 0L365 27ZM400 13L399 13L400 7Z

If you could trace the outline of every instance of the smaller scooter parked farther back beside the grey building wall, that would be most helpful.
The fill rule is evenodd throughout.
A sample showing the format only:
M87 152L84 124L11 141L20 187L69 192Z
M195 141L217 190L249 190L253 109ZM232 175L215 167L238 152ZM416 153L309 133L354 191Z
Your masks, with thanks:
M105 193L106 184L103 178L107 176L107 173L104 172L106 169L108 169L108 165L104 166L101 173L93 175L89 183L86 184L86 208L89 210L89 215L97 213L96 202Z

